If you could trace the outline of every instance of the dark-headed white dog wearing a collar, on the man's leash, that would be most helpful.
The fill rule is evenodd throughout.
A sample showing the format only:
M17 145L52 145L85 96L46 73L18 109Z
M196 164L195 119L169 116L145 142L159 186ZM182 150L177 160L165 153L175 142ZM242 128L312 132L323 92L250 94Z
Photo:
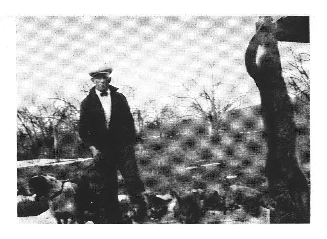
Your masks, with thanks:
M24 196L36 194L36 199L48 199L49 210L57 223L77 223L76 183L58 180L48 175L34 176L19 192Z

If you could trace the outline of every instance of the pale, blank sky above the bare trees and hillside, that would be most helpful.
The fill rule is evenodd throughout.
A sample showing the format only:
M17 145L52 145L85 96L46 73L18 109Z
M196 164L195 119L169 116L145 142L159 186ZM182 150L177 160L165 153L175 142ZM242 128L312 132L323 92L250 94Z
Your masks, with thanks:
M141 104L172 101L176 81L209 75L224 79L221 98L251 90L245 105L259 104L245 70L244 53L257 16L18 17L17 104L55 93L80 102L92 86L88 72L113 68L112 85L136 89ZM309 44L299 43L301 51ZM287 54L281 52L281 54ZM231 91L232 86L237 86ZM197 90L194 87L194 90Z

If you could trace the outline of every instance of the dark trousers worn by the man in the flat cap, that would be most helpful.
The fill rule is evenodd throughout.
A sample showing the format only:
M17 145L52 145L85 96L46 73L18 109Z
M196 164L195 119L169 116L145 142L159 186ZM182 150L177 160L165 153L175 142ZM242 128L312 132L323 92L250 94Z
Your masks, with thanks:
M134 146L126 146L118 153L111 150L101 152L104 159L96 163L96 170L102 178L101 204L105 212L104 223L123 223L118 201L117 165L125 180L128 194L145 190L138 174Z

